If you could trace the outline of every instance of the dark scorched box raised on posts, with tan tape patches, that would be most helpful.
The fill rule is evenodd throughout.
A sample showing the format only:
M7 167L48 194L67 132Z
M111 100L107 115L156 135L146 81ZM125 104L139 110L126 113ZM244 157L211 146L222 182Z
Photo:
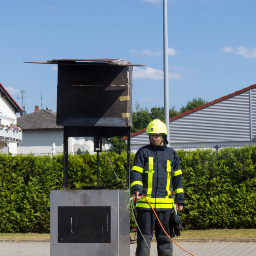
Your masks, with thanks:
M57 124L132 126L132 66L58 63Z

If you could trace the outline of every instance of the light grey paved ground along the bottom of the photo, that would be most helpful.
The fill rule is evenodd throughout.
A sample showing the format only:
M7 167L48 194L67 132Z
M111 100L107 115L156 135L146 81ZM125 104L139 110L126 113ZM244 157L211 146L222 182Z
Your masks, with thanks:
M256 256L256 242L197 241L180 242L180 246L195 256ZM150 256L157 256L156 243L151 243ZM136 244L130 246L134 256ZM174 245L174 256L189 256L189 253ZM49 242L0 242L0 256L50 256ZM83 256L87 256L86 253ZM90 255L92 256L92 255Z

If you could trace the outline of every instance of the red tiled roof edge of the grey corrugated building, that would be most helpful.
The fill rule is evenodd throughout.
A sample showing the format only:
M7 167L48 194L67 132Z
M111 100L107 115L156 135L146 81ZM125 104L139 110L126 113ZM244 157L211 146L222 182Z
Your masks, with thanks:
M233 96L235 96L235 95L238 95L238 94L240 94L240 93L243 93L243 92L245 92L245 91L247 91L247 90L250 90L250 89L253 89L253 88L255 88L255 87L256 87L256 84L250 85L250 86L245 87L245 88L243 88L243 89L241 89L241 90L238 90L238 91L236 91L236 92L234 92L234 93L230 93L230 94L228 94L228 95L226 95L226 96L223 96L223 97L221 97L221 98L219 98L219 99L215 99L215 100L213 100L213 101L211 101L211 102L207 102L206 104L203 104L203 105L198 106L198 107L196 107L196 108L190 109L190 110L188 110L188 111L186 111L186 112L180 113L180 114L178 114L177 116L172 116L172 117L169 119L169 122L171 122L171 121L173 121L173 120L175 120L175 119L178 119L178 118L180 118L180 117L186 116L186 115L188 115L188 114L190 114L190 113L192 113L192 112L198 111L198 110L200 110L200 109L202 109L202 108L206 108L206 107L208 107L208 106L210 106L210 105L213 105L213 104L215 104L215 103L217 103L217 102L220 102L220 101L222 101L222 100L224 100L224 99L231 98L231 97L233 97ZM136 135L139 135L139 134L145 132L146 129L147 129L147 128L145 127L145 128L143 128L143 129L141 129L140 131L136 131L136 132L132 133L132 134L131 134L131 137L134 137L134 136L136 136ZM123 140L127 140L127 137L123 137Z

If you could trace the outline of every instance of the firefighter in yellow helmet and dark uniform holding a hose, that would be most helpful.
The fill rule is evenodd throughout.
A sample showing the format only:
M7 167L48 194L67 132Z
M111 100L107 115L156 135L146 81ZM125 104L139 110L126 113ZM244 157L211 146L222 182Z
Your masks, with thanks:
M177 153L166 146L167 129L162 121L151 121L146 134L149 135L150 144L137 151L131 170L131 191L137 200L137 224L141 231L138 230L136 256L149 255L154 228L158 256L172 256L172 241L160 227L145 198L140 195L148 199L164 229L170 234L169 219L174 207L180 212L184 206L180 160Z

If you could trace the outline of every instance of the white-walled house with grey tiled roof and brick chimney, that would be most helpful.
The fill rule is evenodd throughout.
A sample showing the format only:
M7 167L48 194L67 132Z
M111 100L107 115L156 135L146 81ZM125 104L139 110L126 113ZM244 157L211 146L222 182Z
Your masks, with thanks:
M56 124L56 113L39 109L17 118L23 130L23 143L17 147L19 154L55 154L63 153L64 127ZM108 138L102 138L102 150L108 149ZM69 137L68 152L94 151L93 137Z

